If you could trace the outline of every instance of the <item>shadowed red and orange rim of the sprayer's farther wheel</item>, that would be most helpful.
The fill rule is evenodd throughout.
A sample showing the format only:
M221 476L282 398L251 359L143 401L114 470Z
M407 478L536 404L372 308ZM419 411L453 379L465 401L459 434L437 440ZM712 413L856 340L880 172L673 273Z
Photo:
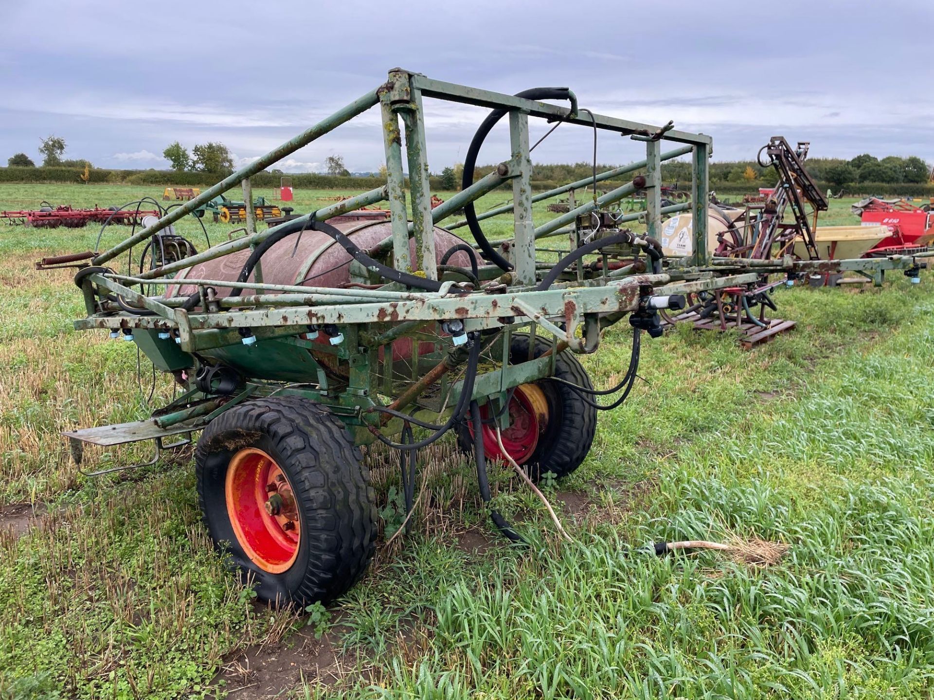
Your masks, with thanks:
M538 438L548 425L548 402L542 389L533 384L524 384L516 387L507 410L509 427L500 432L502 446L513 461L523 464L535 452ZM480 408L480 415L484 419L493 414L488 403ZM470 429L473 435L474 427ZM496 425L484 424L480 430L487 458L508 461L496 439Z

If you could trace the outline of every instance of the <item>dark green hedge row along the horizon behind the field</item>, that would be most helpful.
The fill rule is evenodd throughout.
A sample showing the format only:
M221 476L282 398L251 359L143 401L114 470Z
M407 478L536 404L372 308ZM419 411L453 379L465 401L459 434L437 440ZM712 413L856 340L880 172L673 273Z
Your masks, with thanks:
M19 168L19 167L0 167L0 182L27 182L27 183L78 183L81 182L79 175L83 173L81 168ZM101 168L92 168L89 173L90 181L93 183L114 183L128 185L158 185L160 187L210 187L219 180L219 175L208 173L177 173L171 170L106 170ZM478 174L478 177L483 174ZM292 187L303 189L374 189L383 185L384 181L379 177L343 177L336 175L318 175L315 173L304 173L299 175L288 175L292 180ZM252 177L254 187L275 188L279 186L281 175L273 173L260 173ZM625 178L619 180L606 180L600 183L600 189L613 189L625 181ZM532 181L532 188L537 191L553 189L563 185L561 182L551 181ZM772 187L772 182L722 182L715 183L712 189L717 194L747 194L756 192L760 187ZM689 183L684 183L689 187ZM826 192L833 189L835 192L839 188L831 187L826 182L818 182L817 186L821 191ZM432 177L431 187L435 191L442 190L441 178ZM510 189L511 185L505 183L502 189ZM860 183L858 185L848 185L843 188L847 194L854 196L860 194L875 194L883 196L900 197L934 197L934 185L920 184L897 184L897 183Z

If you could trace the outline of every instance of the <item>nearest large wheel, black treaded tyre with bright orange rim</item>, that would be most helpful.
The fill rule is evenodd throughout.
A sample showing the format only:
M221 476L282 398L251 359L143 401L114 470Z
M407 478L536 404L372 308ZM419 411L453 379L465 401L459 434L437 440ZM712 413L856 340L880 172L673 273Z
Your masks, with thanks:
M328 603L361 578L375 495L332 413L297 397L248 401L205 428L195 463L211 539L261 600Z

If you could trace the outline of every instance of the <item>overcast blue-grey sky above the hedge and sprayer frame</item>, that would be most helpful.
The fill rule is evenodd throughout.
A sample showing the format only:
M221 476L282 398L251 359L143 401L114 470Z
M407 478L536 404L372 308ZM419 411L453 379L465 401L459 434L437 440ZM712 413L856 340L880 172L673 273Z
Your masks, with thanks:
M405 3L0 0L0 156L63 136L66 158L165 168L172 141L221 141L246 162L374 88L401 65L503 92L570 86L604 114L714 137L715 160L753 158L771 135L814 157L934 161L934 2ZM426 104L432 171L462 161L479 109ZM504 125L480 161L508 156ZM546 130L533 120L532 139ZM541 162L589 161L564 126ZM378 111L293 154L315 171L383 158ZM636 160L601 137L599 160Z

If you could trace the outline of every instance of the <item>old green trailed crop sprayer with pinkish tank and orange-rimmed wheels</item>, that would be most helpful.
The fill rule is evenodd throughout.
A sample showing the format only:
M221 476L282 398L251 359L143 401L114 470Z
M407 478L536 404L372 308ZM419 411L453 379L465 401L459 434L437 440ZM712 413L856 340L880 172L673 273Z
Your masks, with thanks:
M491 110L468 150L463 189L433 208L426 98ZM134 246L161 250L179 218L377 105L385 186L200 252L190 244L146 265L134 260L139 273L111 267ZM474 181L477 152L503 118L512 155ZM530 119L629 136L644 145L645 158L532 195ZM663 151L664 142L674 147ZM417 450L450 430L474 455L487 503L488 458L531 480L565 476L586 458L597 412L632 390L643 332L661 334L660 313L717 289L753 290L768 273L791 277L809 266L854 263L711 258L711 143L672 124L579 112L566 88L514 96L393 69L385 84L119 245L78 256L84 266L75 281L87 315L75 327L108 329L136 343L183 394L145 421L67 432L73 455L80 461L84 442L151 440L155 464L160 450L190 441L178 436L203 430L196 472L208 530L253 577L259 595L303 605L341 595L374 551L375 504L358 445L380 441L399 452L410 511ZM660 164L679 156L692 161L691 200L662 206ZM608 180L616 180L613 189L533 223L532 203ZM506 183L513 202L477 215L474 202ZM615 209L640 191L644 212ZM361 211L381 202L389 204L388 220ZM438 226L460 209L463 221ZM692 222L692 250L666 258L662 217L681 212ZM511 215L513 234L488 240L481 222L503 214ZM644 233L628 223L644 224ZM451 232L462 227L474 244ZM542 253L547 238L567 242L557 259ZM878 270L913 264L897 257L857 262ZM622 380L594 389L576 356L598 351L602 331L623 319L631 350ZM504 535L522 540L495 509L490 514Z

